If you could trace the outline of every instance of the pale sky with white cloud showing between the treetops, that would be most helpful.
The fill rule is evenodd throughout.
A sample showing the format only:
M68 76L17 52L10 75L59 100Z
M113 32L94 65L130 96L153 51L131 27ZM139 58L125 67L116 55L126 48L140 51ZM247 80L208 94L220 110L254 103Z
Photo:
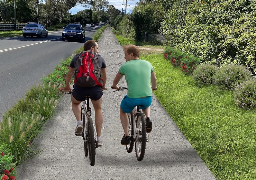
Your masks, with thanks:
M112 4L116 9L119 9L120 11L122 11L122 8L124 10L125 13L125 6L122 4L125 4L125 1L122 0L109 0L109 5ZM130 4L130 6L127 6L127 10L129 10L129 13L132 12L132 9L136 6L136 3L139 2L139 0L129 0L127 1L127 5ZM85 7L82 7L81 5L77 4L76 7L71 8L69 10L69 12L71 14L76 14L78 11L84 10L86 9ZM128 12L127 12L128 13Z

